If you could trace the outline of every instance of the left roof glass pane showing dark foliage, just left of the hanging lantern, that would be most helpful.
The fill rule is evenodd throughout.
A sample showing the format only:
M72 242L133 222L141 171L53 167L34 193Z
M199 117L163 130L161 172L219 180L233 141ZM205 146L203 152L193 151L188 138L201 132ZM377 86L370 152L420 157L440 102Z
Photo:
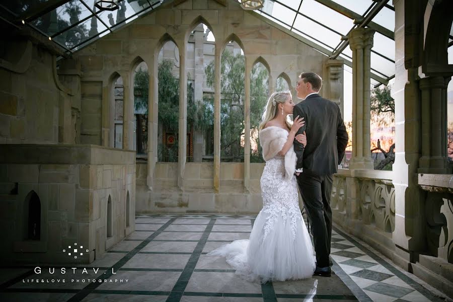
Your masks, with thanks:
M90 15L92 15L91 11L79 0L71 0L33 20L31 24L48 36L52 36L73 24L79 23Z

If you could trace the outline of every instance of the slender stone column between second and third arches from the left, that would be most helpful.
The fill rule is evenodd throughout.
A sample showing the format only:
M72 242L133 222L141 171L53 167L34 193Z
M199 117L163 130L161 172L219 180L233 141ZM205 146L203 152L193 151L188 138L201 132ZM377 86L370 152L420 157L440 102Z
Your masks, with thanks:
M148 162L146 186L153 191L154 168L158 161L158 112L159 112L159 89L158 89L158 57L153 56L148 60Z

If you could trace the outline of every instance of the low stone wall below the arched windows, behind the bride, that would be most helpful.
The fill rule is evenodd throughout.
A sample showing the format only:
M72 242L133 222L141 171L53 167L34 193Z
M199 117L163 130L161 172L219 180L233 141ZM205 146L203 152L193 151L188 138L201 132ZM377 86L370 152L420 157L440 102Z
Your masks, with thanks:
M136 164L137 212L258 213L264 164L251 165L251 190L244 189L244 163L221 163L220 191L213 188L213 163L187 163L185 186L178 188L177 163L157 163L153 192L146 186L146 163Z

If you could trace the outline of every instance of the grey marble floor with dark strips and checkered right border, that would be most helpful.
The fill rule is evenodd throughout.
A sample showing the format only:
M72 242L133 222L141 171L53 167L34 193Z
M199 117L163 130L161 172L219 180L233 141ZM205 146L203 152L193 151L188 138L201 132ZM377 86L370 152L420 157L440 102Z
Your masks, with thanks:
M127 282L30 283L47 267L0 268L0 301L443 301L387 259L334 227L331 278L255 284L206 254L248 239L255 215L138 214L135 232L68 279ZM33 266L34 268L34 266ZM93 268L99 268L95 271ZM115 274L112 274L112 269Z

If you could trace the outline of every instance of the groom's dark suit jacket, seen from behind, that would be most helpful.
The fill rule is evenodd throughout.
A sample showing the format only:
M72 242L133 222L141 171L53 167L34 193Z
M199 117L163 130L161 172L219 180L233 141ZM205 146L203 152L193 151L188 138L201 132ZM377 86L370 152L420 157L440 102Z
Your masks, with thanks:
M294 106L293 118L304 117L305 125L297 134L307 134L307 146L294 140L297 155L296 169L323 176L337 173L348 143L348 133L340 108L319 94L308 96Z

